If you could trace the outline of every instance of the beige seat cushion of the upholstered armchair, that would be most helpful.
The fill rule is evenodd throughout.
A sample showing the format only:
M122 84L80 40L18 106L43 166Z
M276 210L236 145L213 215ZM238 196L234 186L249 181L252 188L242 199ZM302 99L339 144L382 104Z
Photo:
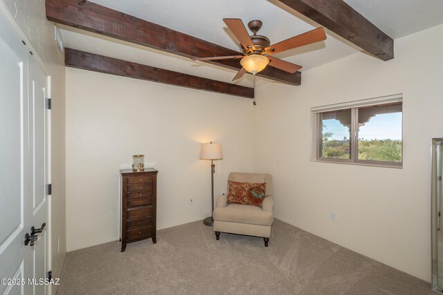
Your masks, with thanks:
M272 225L274 220L271 212L263 211L261 207L244 204L228 204L226 207L216 208L213 218L251 225Z

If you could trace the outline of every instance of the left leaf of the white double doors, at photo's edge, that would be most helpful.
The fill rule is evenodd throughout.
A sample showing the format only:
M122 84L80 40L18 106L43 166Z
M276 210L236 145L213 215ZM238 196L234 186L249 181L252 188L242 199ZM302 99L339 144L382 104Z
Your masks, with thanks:
M0 18L0 278L25 278L28 231L28 50ZM1 294L24 294L24 285L0 284Z

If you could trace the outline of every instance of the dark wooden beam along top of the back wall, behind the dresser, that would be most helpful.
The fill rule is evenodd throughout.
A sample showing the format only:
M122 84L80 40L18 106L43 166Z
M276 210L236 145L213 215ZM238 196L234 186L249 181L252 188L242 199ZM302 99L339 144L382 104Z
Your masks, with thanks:
M64 64L71 68L92 70L99 73L142 79L227 95L247 98L254 97L254 88L250 87L219 82L212 79L174 72L172 70L164 70L163 68L154 68L153 66L145 66L131 61L86 53L71 48L65 48L64 50Z

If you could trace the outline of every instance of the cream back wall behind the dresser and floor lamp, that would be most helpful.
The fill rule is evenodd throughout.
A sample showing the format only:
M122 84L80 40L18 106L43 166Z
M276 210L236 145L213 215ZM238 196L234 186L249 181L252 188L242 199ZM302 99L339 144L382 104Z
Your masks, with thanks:
M68 251L118 240L118 169L134 154L159 170L158 229L210 216L200 145L221 143L217 196L230 171L252 171L252 108L242 97L66 68Z

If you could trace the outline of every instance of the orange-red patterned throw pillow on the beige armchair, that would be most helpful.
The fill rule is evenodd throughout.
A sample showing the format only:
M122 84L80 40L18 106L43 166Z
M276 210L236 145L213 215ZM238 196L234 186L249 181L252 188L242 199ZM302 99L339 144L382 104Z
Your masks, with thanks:
M262 207L266 197L266 182L235 182L228 180L229 192L226 198L228 204L248 204Z

